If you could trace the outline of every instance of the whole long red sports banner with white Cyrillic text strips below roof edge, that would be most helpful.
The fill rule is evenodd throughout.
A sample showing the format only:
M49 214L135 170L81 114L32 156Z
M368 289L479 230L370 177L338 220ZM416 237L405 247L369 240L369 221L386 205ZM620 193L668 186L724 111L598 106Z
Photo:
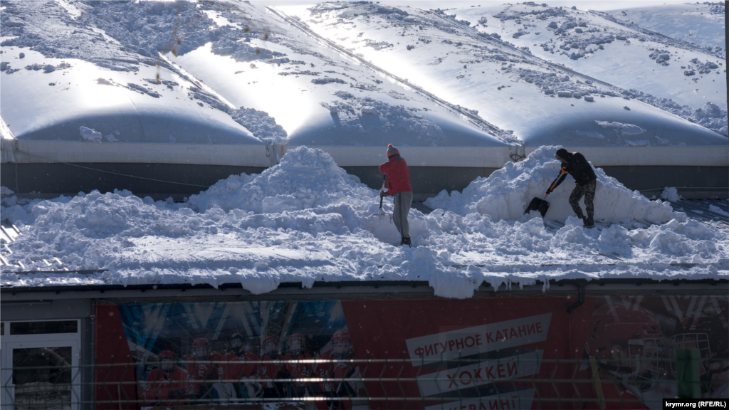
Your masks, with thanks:
M685 350L698 357L697 394L729 398L728 296L588 296L568 314L575 300L99 304L97 363L134 370L98 368L96 398L141 407L658 410L677 395ZM109 380L125 384L114 390Z

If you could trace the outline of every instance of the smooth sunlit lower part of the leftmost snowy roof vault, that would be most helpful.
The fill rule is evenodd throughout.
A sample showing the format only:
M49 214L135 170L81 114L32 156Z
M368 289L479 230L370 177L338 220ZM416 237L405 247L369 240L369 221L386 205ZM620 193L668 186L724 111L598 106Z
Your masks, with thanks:
M225 112L200 109L187 98L179 78L163 80L169 88L156 84L155 67L141 66L132 74L86 61L69 60L71 65L31 50L23 53L20 61L26 66L51 67L21 69L3 84L2 117L17 139L81 142L79 128L85 126L101 133L104 143L262 144Z

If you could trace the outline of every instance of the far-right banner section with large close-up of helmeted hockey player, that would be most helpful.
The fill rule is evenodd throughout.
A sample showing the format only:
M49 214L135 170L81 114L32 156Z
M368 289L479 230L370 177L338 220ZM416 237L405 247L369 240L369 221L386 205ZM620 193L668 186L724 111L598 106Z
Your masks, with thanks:
M663 409L679 395L679 352L695 352L700 398L729 398L728 295L606 295L594 300L578 375L593 408ZM698 397L697 397L698 398Z

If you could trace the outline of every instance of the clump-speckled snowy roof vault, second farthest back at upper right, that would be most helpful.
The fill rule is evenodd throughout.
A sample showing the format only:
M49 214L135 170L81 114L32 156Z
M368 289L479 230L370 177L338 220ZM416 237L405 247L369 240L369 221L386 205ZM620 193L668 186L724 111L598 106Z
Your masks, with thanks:
M609 82L668 112L687 117L706 103L727 108L725 45L706 50L615 19L614 13L569 7L504 4L453 13L474 31L496 33L538 58Z

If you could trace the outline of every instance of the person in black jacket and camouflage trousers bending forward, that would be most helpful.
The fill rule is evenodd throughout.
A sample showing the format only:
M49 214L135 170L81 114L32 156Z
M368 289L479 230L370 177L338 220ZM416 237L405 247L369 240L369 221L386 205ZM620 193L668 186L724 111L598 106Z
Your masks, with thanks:
M593 228L595 226L595 221L593 220L595 216L593 200L595 199L595 187L597 185L595 171L593 171L588 160L580 152L567 152L564 148L560 148L554 157L562 161L562 169L559 172L559 176L547 190L547 195L552 193L564 181L567 174L572 175L577 186L574 187L572 194L569 196L569 204L572 206L574 213L577 214L577 217L585 221L585 228ZM585 209L588 212L587 218L582 214L582 208L580 208L580 198L582 196L585 196Z

